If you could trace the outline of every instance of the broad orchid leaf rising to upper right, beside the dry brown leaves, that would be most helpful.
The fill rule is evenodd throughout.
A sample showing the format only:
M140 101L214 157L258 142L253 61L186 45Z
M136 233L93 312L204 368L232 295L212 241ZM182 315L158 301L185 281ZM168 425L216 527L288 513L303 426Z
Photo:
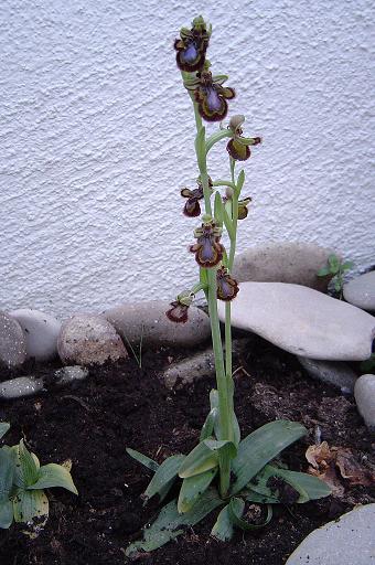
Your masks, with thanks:
M265 424L243 439L237 457L232 461L236 477L232 494L239 492L265 465L306 434L307 429L301 424L280 419Z

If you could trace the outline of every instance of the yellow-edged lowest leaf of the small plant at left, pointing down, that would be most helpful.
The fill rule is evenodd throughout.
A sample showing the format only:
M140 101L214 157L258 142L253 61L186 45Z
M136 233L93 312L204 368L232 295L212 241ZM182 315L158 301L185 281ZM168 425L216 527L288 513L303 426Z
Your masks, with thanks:
M34 522L42 527L49 518L49 499L43 490L19 489L13 499L15 522Z

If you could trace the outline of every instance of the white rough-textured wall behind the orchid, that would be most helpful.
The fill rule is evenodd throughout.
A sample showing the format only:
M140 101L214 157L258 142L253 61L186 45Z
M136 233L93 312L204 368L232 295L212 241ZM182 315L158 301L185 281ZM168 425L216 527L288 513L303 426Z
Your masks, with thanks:
M202 8L213 70L237 89L231 110L264 138L239 250L302 239L373 264L372 4L4 0L0 308L66 315L194 280L179 195L196 177L193 116L172 44ZM225 174L225 143L211 164Z

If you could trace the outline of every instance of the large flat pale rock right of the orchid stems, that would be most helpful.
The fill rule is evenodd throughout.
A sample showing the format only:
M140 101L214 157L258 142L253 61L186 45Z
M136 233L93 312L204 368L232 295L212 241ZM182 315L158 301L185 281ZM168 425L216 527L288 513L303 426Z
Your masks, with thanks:
M224 302L218 302L218 313L224 320ZM329 361L368 359L375 337L369 313L286 282L242 282L232 302L232 324L296 355Z

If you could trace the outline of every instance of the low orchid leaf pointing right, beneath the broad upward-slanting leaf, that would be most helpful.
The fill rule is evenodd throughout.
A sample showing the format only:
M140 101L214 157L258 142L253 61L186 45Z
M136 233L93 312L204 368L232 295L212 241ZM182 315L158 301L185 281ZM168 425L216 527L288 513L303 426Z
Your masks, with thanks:
M331 489L325 484L325 482L318 479L318 477L313 477L304 472L289 471L289 469L280 469L278 467L274 467L272 465L266 465L266 467L261 469L261 471L255 477L254 481L250 482L248 487L260 497L262 495L267 499L274 499L274 501L269 501L269 503L272 504L287 501L282 500L282 492L267 486L271 477L282 479L299 493L298 500L294 501L298 504L309 502L310 500L321 499L331 494Z

